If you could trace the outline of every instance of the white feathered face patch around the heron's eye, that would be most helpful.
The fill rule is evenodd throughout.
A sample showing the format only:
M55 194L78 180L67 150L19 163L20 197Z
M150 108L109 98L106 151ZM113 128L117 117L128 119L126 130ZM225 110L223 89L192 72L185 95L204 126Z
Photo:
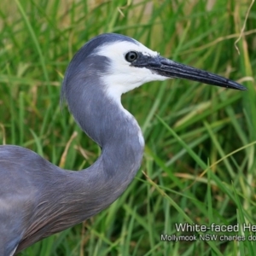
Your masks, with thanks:
M150 81L167 79L152 73L146 67L132 67L131 63L125 60L125 55L129 51L137 51L153 57L158 55L157 52L148 49L139 42L133 44L127 41L103 44L97 50L97 55L106 56L111 61L108 73L103 74L101 79L106 85L108 96L119 103L123 93Z

